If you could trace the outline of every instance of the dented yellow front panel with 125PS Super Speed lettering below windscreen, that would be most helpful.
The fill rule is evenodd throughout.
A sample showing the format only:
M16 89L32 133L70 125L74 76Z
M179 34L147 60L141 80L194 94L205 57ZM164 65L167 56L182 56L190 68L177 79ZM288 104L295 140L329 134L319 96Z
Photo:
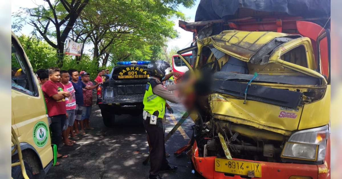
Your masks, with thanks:
M254 126L259 129L290 135L297 130L303 107L287 108L259 101L228 98L214 93L209 96L214 118ZM291 113L291 114L290 114ZM237 131L241 133L242 131Z

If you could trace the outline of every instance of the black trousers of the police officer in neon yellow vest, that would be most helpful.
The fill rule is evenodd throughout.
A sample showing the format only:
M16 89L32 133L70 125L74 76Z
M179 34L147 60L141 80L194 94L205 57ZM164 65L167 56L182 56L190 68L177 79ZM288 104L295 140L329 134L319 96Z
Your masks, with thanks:
M163 124L160 118L157 119L157 124L150 124L150 118L144 120L144 127L149 136L152 150L150 151L150 175L158 175L160 170L169 167L165 157L165 142Z

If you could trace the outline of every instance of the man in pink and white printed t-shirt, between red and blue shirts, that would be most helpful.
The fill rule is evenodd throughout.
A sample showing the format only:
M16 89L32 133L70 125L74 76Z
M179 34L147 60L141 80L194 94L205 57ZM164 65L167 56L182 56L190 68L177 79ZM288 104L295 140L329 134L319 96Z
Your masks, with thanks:
M79 137L76 137L74 134L74 131L72 130L74 121L75 121L75 108L76 108L76 98L75 98L75 89L73 84L69 81L69 73L66 70L61 71L61 83L64 86L63 91L67 91L70 93L70 96L68 98L65 98L65 106L66 106L66 112L68 114L67 119L65 120L62 135L64 139L64 144L66 146L73 146L74 143L79 139ZM71 138L74 140L70 140L69 134L71 133Z

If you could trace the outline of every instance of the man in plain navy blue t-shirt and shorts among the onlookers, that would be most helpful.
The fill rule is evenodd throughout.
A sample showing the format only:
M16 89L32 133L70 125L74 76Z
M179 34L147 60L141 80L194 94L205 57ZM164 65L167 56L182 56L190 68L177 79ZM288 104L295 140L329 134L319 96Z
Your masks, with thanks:
M75 134L81 134L84 135L86 134L84 132L84 126L83 126L83 121L81 120L82 116L82 110L83 110L83 91L82 88L87 89L87 90L92 90L98 87L98 85L102 84L98 83L97 85L94 86L86 86L82 81L78 80L79 74L77 70L70 70L70 76L71 76L71 83L74 86L75 89L75 98L76 98L76 109L75 109L75 122L74 122L74 128L75 128ZM86 72L83 72L86 73ZM78 130L78 122L80 123L81 126L81 132Z

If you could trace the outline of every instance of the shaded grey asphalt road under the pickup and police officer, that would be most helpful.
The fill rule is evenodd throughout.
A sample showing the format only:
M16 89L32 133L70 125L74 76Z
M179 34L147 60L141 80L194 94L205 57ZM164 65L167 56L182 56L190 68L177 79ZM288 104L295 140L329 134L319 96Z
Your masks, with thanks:
M170 103L169 103L170 104ZM178 121L184 107L170 104L174 114L167 115L166 133L171 131ZM59 151L68 154L65 159L58 159L61 166L51 167L45 178L75 179L134 179L148 178L149 166L142 165L148 156L148 144L141 116L116 116L116 126L107 128L102 122L100 108L93 105L91 126L86 135L79 135L80 140L74 146L63 146ZM171 166L178 166L175 173L160 174L162 178L196 178L186 154L176 158L173 153L187 144L191 137L194 122L188 117L166 143L167 158ZM184 132L183 132L184 131Z

